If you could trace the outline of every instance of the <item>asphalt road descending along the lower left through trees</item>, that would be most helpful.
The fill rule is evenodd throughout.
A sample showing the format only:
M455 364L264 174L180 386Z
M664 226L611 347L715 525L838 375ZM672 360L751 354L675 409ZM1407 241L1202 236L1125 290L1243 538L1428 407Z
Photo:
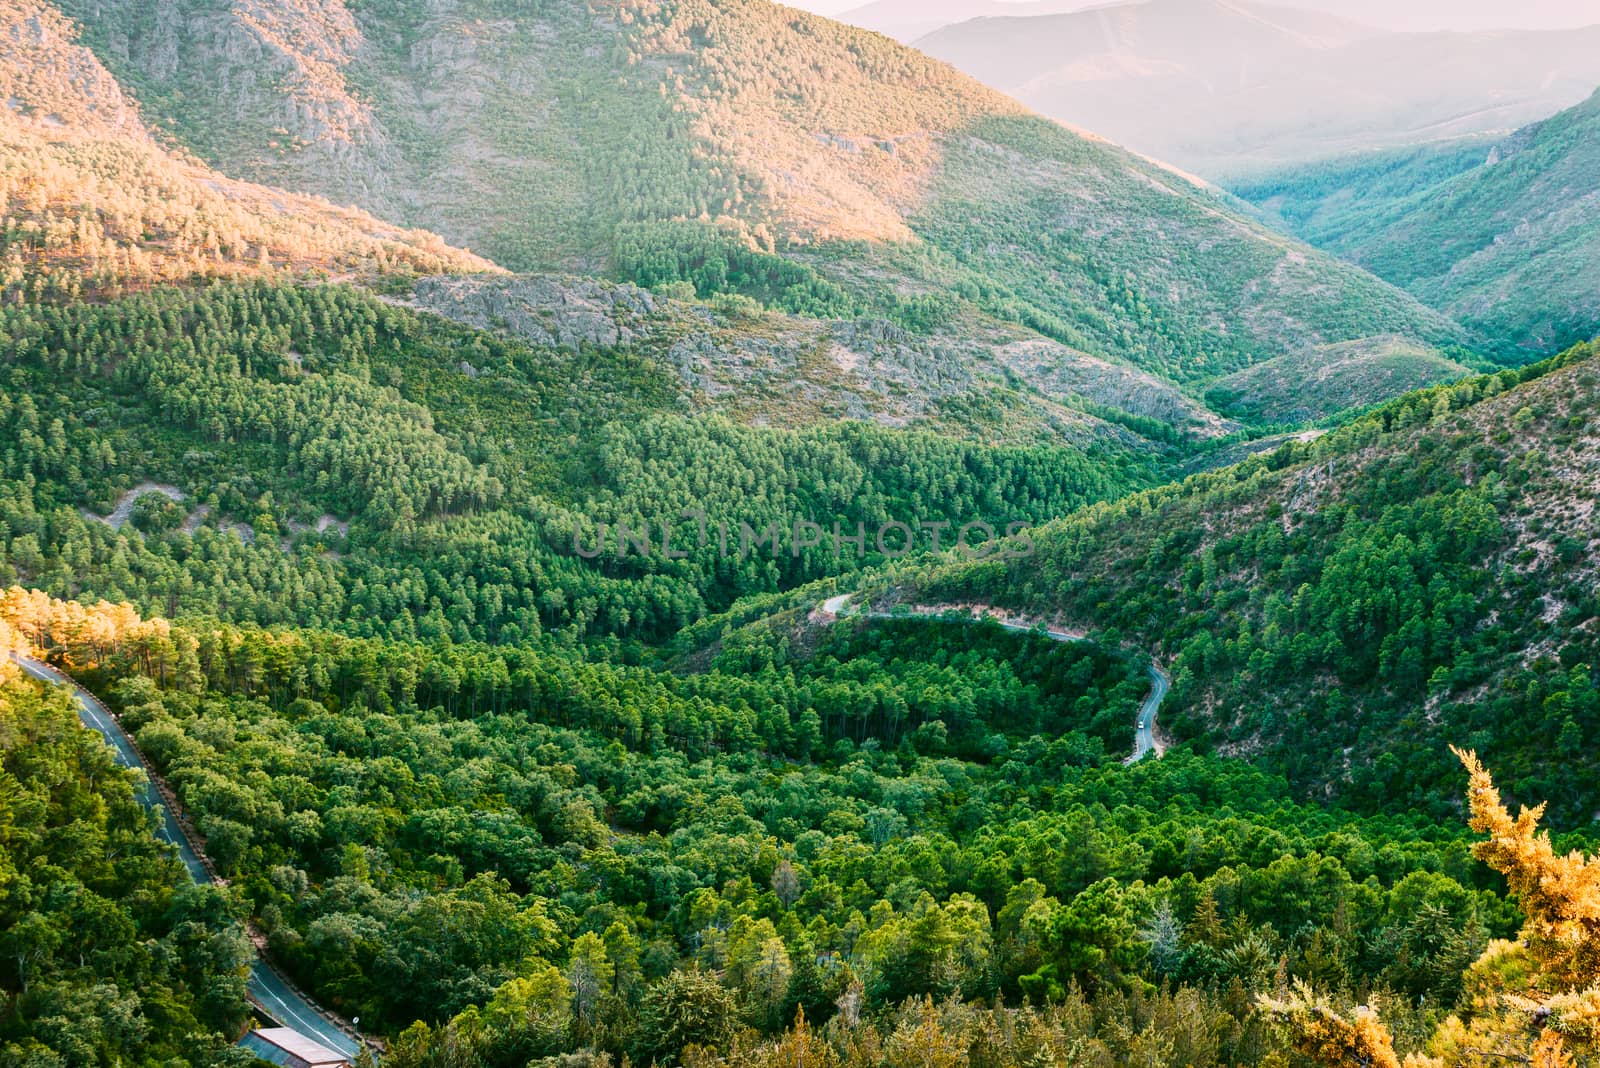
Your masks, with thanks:
M128 732L122 729L122 724L117 723L117 718L110 715L110 710L106 708L101 699L48 664L40 664L38 660L30 660L14 652L11 654L11 659L34 678L72 689L72 695L78 700L78 718L83 721L83 726L106 739L106 743L117 753L118 764L123 767L136 767L144 772L144 785L138 788L138 798L144 807L160 817L162 823L155 831L157 836L178 851L178 857L184 862L184 868L189 870L189 876L195 883L216 881L211 868L206 867L205 860L178 825L178 819L173 815L171 809L162 803L162 796L157 793L154 785L155 775L150 771L150 766L144 763L144 756L133 743L133 739L128 737ZM317 1006L314 1006L306 996L296 993L290 982L266 961L258 958L251 962L250 978L245 982L245 986L250 990L250 996L262 1009L262 1012L272 1017L277 1023L294 1028L306 1038L322 1042L341 1057L354 1060L360 1052L360 1044L355 1039L328 1020L328 1017L325 1017L322 1010L317 1009Z

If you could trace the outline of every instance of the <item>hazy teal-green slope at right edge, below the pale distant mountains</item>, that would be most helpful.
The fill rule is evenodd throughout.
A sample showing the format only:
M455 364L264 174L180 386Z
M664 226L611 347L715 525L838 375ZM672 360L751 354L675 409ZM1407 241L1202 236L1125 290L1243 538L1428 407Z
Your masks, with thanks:
M1240 185L1318 245L1507 355L1600 331L1600 93L1491 145L1355 160ZM1333 177L1330 177L1330 173Z

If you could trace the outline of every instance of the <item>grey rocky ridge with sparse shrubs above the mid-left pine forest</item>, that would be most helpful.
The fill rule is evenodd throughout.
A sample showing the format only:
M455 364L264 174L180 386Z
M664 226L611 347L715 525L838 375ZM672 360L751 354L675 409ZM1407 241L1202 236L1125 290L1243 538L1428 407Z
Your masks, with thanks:
M563 275L432 277L408 304L542 347L634 347L672 371L691 406L752 425L859 419L990 440L1131 441L1091 414L1117 409L1197 438L1235 428L1150 374L990 320L917 334L882 318L720 312Z

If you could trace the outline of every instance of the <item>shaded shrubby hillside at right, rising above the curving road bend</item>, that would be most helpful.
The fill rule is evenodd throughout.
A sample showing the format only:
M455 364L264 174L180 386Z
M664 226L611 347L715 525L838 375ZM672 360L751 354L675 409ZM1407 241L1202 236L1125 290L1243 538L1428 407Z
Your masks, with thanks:
M1520 795L1587 822L1597 404L1587 347L1438 387L1090 508L1035 532L1026 560L936 569L920 596L1021 606L1157 651L1176 679L1170 731L1306 791L1443 812L1445 745L1464 742Z

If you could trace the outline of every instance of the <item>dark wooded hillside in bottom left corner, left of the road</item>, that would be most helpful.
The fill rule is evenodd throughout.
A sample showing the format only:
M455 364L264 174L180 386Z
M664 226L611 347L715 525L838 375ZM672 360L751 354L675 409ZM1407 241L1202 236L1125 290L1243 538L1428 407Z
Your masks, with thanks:
M224 1058L245 1018L240 903L189 883L70 699L11 675L0 665L0 1058Z

